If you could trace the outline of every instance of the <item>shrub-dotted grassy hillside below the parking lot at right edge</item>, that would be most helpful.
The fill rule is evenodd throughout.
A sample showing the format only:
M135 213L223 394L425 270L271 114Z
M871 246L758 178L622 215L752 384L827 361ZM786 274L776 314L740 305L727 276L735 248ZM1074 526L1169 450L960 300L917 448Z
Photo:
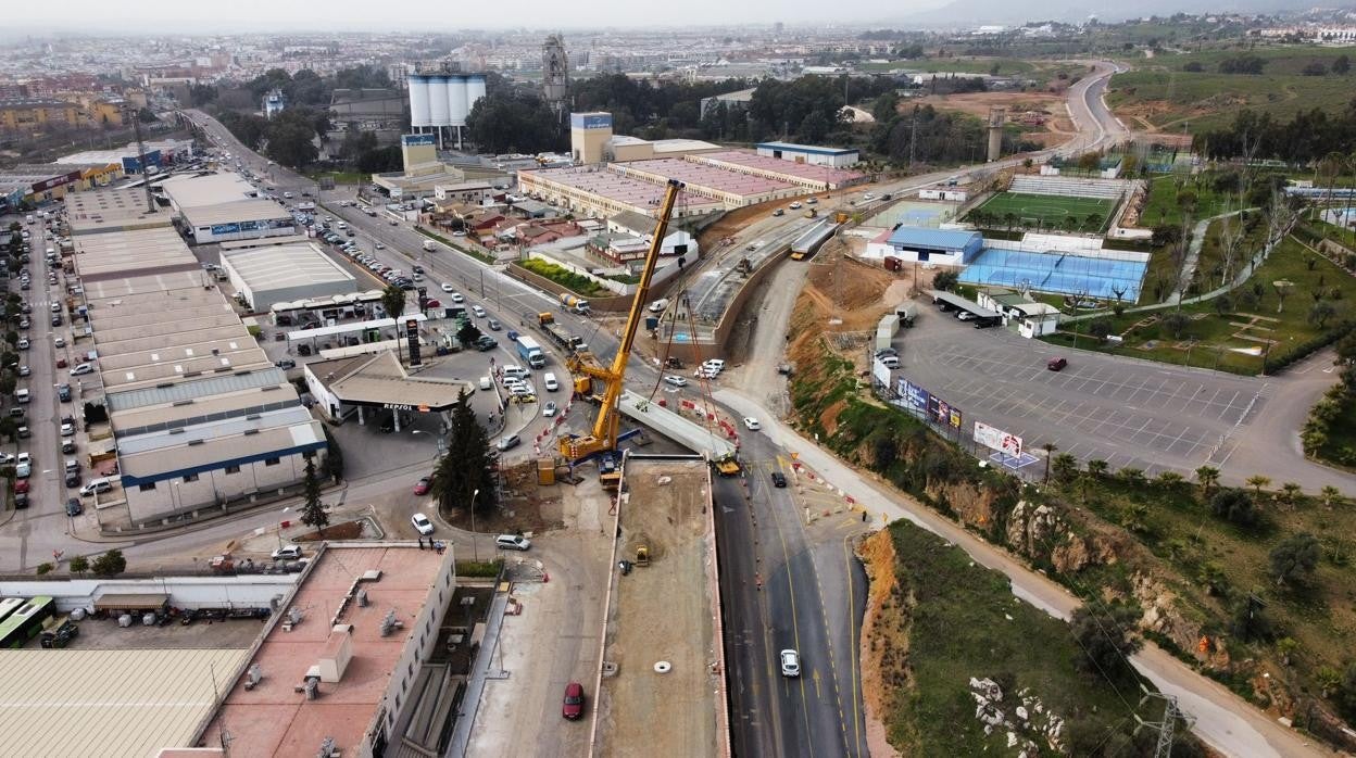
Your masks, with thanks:
M1280 481L1271 484L1277 490ZM1227 602L1205 594L1201 578L1222 576L1219 590L1257 591L1268 603L1267 617L1276 626L1276 636L1299 641L1292 674L1307 679L1319 666L1341 666L1351 658L1351 635L1356 633L1356 563L1349 556L1356 544L1356 508L1337 503L1328 508L1307 492L1295 503L1285 503L1272 492L1256 498L1261 522L1245 527L1215 517L1196 487L1158 487L1128 484L1115 477L1081 479L1077 484L1059 484L1066 499L1082 503L1111 523L1135 525L1135 536L1155 557L1180 576L1174 590L1214 621L1205 622L1211 636L1224 632L1223 613ZM1292 534L1309 532L1319 537L1323 559L1310 587L1281 590L1268 575L1271 549ZM1229 637L1230 635L1224 635ZM1262 643L1265 644L1265 643ZM1230 645L1239 645L1231 640ZM1246 650L1234 650L1234 659L1250 658Z

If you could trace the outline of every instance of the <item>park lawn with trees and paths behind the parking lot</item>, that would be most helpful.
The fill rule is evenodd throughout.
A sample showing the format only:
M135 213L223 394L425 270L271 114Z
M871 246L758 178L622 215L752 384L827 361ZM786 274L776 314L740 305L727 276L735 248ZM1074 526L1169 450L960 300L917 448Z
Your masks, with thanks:
M1306 263L1310 259L1314 263L1313 270ZM1284 311L1277 313L1280 300L1272 282L1281 279L1294 282L1295 286L1285 297ZM1111 334L1120 335L1124 339L1121 344L1100 343L1088 336L1089 321L1075 324L1079 330L1077 340L1069 332L1059 332L1043 339L1064 346L1074 346L1077 342L1077 347L1085 350L1134 355L1163 363L1189 363L1205 369L1257 374L1261 373L1262 358L1268 353L1264 340L1275 342L1269 347L1269 357L1276 359L1322 335L1323 330L1309 320L1309 312L1314 304L1310 293L1319 287L1319 281L1322 281L1323 289L1336 287L1341 293L1341 297L1330 298L1337 313L1328 320L1325 327L1332 328L1344 317L1349 317L1356 308L1356 300L1353 300L1356 298L1356 279L1326 259L1310 254L1294 239L1287 239L1258 267L1249 283L1231 293L1234 301L1239 298L1241 290L1250 293L1242 296L1243 298L1254 298L1250 308L1230 308L1224 315L1219 315L1215 311L1215 302L1182 306L1181 311L1192 320L1180 336L1173 336L1163 328L1162 317L1168 313L1165 311L1108 316L1112 321ZM1256 294L1254 286L1261 290L1260 296ZM1241 325L1249 323L1253 325ZM1258 354L1252 355L1241 351L1249 348Z

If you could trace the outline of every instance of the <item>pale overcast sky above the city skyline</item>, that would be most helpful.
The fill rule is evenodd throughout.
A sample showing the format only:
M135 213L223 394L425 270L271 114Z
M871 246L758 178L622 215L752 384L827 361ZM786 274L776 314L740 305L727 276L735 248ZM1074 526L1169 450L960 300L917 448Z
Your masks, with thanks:
M222 33L458 28L598 28L720 23L831 22L871 24L903 19L945 0L518 0L517 3L416 0L60 0L4 3L5 26L26 31ZM850 7L850 15L845 15Z

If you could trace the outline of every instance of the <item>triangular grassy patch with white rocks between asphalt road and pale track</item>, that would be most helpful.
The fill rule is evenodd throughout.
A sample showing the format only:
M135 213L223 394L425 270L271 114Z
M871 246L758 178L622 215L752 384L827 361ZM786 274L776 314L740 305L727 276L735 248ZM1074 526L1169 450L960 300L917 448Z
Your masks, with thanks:
M885 682L887 728L900 753L1008 754L1006 730L986 735L975 717L971 677L1003 682L1008 709L1016 692L1029 689L1070 725L1082 721L1106 732L1128 717L1105 679L1077 669L1083 652L1070 626L1014 598L1006 576L907 521L892 523L890 533L898 595L913 601L903 612L907 652L900 651L911 677Z

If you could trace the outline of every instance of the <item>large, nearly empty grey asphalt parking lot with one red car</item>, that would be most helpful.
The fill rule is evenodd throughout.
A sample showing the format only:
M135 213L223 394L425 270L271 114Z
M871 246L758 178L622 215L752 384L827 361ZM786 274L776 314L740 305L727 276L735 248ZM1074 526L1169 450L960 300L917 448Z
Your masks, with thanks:
M895 376L960 408L965 438L980 420L1021 437L1032 453L1050 442L1112 469L1189 473L1242 434L1267 396L1264 380L1060 350L933 308L918 321L895 339ZM1067 367L1048 370L1054 357Z

